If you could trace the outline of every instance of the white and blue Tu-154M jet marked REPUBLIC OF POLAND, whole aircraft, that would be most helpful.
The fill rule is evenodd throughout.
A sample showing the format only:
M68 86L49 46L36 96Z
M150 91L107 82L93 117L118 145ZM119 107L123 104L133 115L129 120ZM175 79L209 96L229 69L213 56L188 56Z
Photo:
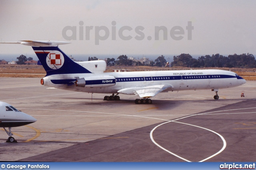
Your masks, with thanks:
M104 100L120 100L118 94L139 96L136 104L151 104L150 98L160 92L181 90L231 88L246 83L236 73L226 70L171 70L141 72L104 72L105 61L76 62L62 52L58 45L65 41L18 41L15 44L32 46L46 70L41 84L77 92L112 94ZM116 95L115 95L116 94Z

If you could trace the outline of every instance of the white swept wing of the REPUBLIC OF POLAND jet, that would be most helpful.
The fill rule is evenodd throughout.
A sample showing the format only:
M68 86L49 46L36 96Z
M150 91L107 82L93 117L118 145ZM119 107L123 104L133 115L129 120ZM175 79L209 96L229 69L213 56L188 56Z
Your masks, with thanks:
M118 90L118 93L135 94L135 95L140 96L141 98L150 98L150 97L156 96L158 93L160 93L168 88L172 88L172 85L159 84L159 85L145 86L145 87L139 87L139 88L125 88L122 90Z

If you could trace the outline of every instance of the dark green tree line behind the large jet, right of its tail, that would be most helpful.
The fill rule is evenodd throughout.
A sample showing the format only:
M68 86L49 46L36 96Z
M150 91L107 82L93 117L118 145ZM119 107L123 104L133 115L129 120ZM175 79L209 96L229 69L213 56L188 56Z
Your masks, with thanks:
M91 57L92 58L92 57ZM165 66L166 59L161 55L155 61L151 61L148 64L141 63L140 61L133 61L128 59L126 55L120 55L117 61L112 58L106 60L108 66L118 65L118 66L131 66L131 65L145 65L145 66ZM193 58L190 54L181 54L173 57L173 61L170 63L171 66L184 66L184 67L244 67L244 68L255 68L256 60L252 54L234 54L228 55L228 57L215 54L215 55L205 55L198 57L198 59Z

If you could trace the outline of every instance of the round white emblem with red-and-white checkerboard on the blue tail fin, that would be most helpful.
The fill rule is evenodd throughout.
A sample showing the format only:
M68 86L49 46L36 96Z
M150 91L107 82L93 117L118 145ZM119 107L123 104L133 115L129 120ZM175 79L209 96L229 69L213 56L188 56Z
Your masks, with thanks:
M64 57L60 51L50 51L46 57L47 65L52 69L58 69L64 64Z

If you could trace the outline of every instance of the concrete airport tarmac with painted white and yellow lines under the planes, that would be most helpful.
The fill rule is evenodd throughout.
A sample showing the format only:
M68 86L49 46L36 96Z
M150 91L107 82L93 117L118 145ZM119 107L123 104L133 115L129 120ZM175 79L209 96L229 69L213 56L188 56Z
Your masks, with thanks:
M0 160L254 161L255 85L219 90L219 100L210 90L193 90L136 105L134 95L104 101L105 94L48 88L40 78L0 78L0 100L37 119L12 128L18 143L5 143L0 129Z

